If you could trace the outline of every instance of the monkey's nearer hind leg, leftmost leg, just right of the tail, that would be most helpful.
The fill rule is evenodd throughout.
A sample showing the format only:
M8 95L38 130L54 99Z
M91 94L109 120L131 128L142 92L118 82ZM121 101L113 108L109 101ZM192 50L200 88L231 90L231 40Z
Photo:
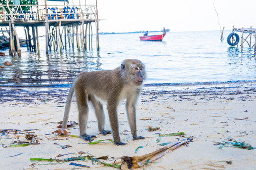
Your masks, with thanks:
M87 120L88 120L88 103L87 103L87 94L85 93L83 88L76 88L76 102L78 106L78 121L79 121L79 130L80 136L86 141L92 141L95 135L87 135L86 134L86 127L87 127Z

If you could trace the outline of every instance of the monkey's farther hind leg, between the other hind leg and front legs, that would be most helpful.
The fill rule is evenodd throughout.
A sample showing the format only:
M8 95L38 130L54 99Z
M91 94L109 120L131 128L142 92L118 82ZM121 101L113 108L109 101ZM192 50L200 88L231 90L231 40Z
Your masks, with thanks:
M97 101L96 98L94 97L94 95L92 95L92 94L88 95L88 99L91 101L91 103L94 107L95 114L96 114L96 117L98 120L99 131L103 135L110 134L111 133L110 130L104 129L105 128L105 115L104 115L103 106L102 106L101 102Z

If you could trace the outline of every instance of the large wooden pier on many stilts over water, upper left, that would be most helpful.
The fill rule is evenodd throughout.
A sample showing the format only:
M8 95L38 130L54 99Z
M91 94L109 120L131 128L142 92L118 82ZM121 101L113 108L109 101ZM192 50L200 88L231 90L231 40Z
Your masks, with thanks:
M24 28L28 51L39 54L38 27L46 28L46 54L74 48L92 50L91 24L95 23L96 50L99 51L99 19L96 6L81 5L0 5L0 26L9 27L9 54L21 55L17 26ZM85 25L85 26L84 26ZM80 35L80 36L79 36ZM87 42L87 40L89 40Z

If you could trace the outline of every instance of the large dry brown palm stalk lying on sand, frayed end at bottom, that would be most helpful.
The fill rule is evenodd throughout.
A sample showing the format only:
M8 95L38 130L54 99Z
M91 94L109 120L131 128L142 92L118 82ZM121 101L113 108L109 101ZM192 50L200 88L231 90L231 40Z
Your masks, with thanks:
M154 151L152 153L148 153L148 154L141 155L141 156L132 156L132 157L123 156L123 157L121 157L122 163L121 163L120 169L121 170L127 170L127 169L133 170L133 169L140 168L147 163L151 163L151 162L161 158L166 153L169 153L169 151L173 151L174 149L178 148L179 146L181 146L182 144L185 144L187 142L188 141L174 142L174 143L166 145L163 148L157 149L156 151Z

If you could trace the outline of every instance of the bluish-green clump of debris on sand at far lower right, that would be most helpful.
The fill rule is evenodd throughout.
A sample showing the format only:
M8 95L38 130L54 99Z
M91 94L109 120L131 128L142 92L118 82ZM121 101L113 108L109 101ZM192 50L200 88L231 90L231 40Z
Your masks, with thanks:
M248 149L248 150L255 149L254 147L252 147L252 145L247 144L245 142L238 142L233 138L229 138L228 140L231 141L231 142L226 142L226 141L214 142L215 143L214 145L219 145L219 149L222 149L223 146L225 146L225 147L229 147L229 146L230 147L238 147L238 148Z

